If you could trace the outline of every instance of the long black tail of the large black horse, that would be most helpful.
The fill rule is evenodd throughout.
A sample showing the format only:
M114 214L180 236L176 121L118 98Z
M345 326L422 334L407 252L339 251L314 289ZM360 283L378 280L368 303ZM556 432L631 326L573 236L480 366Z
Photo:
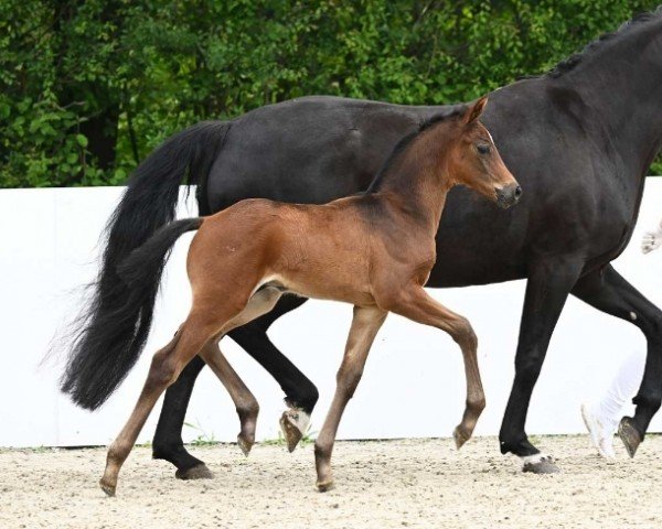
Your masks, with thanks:
M141 284L122 281L118 266L154 231L171 223L180 184L192 185L206 179L228 129L229 122L222 121L195 125L169 138L131 176L106 226L102 269L92 285L88 306L74 323L73 343L61 379L61 390L82 408L94 410L102 406L136 364L151 327L168 249L160 258L150 253L149 267L141 263L153 274L145 276ZM168 233L174 236L195 229L191 223L193 219L170 224L172 231ZM158 241L150 240L148 246L160 249L161 242L170 240L163 237L160 234ZM174 240L177 237L172 244ZM124 267L128 277L134 273L132 269L129 272L130 262L135 261Z

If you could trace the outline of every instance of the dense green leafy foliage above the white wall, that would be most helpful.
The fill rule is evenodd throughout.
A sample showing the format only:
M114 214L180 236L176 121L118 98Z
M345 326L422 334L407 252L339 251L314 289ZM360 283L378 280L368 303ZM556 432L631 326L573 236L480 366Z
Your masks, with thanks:
M0 186L120 184L174 131L302 95L468 100L658 1L2 0Z

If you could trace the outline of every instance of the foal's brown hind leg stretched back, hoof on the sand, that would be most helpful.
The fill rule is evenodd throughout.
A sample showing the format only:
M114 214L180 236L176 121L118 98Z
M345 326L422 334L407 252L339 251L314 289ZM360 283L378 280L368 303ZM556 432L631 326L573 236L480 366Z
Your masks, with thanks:
M226 319L227 320L227 319ZM203 345L218 332L224 320L214 321L207 315L192 313L182 324L174 338L153 357L149 375L138 403L128 422L108 447L106 471L99 485L108 496L115 495L117 476L128 457L145 421L163 390L172 384L183 367Z

